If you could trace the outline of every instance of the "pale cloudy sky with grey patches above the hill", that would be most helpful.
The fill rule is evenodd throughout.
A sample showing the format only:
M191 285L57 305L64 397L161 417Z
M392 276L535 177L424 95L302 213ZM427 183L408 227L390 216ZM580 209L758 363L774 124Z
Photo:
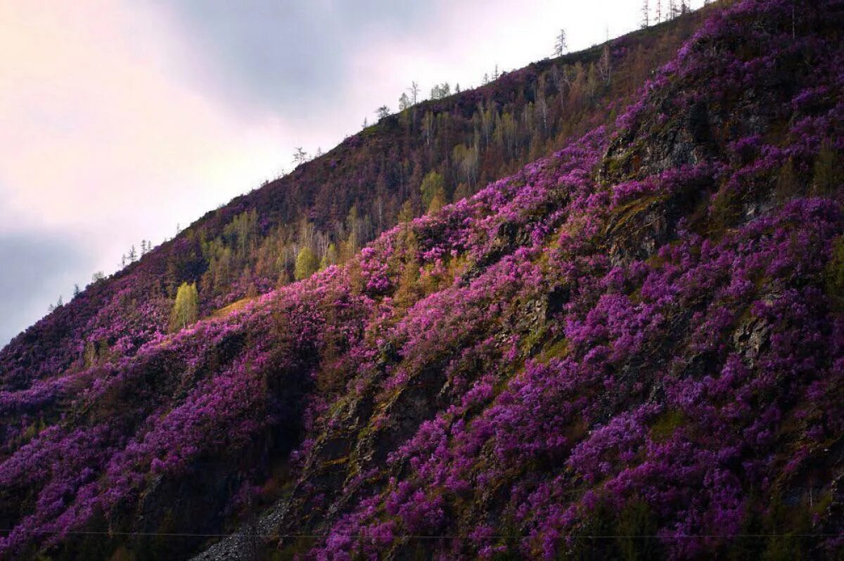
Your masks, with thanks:
M412 81L466 89L560 29L576 51L640 21L639 0L3 0L0 345Z

